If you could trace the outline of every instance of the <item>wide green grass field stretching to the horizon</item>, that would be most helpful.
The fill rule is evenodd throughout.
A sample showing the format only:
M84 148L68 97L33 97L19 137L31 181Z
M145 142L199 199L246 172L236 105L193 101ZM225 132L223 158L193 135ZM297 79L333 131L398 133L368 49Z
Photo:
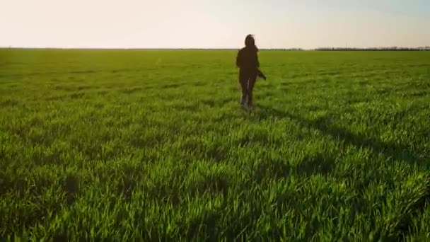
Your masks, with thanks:
M0 50L0 238L428 241L430 52Z

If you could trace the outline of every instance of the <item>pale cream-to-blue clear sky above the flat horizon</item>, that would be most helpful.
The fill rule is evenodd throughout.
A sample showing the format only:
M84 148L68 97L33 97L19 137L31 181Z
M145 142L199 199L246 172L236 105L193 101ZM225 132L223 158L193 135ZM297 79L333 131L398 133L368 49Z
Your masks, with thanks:
M430 45L430 0L0 0L0 47Z

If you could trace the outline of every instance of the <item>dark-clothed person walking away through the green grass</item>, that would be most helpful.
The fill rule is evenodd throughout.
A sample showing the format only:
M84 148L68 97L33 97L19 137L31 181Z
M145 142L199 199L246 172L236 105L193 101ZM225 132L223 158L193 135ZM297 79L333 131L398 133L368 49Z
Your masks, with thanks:
M259 75L260 62L258 62L258 48L255 46L255 38L247 35L245 47L239 50L236 57L236 66L239 67L239 83L242 88L240 105L252 107L252 89Z

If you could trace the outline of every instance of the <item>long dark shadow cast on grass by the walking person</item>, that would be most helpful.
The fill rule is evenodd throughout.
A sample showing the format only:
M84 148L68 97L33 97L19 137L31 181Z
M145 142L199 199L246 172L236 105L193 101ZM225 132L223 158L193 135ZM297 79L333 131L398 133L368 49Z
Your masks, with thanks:
M391 157L398 161L406 161L410 164L424 165L426 161L420 158L414 152L409 150L408 146L394 144L393 142L381 142L379 139L373 137L367 137L363 134L354 134L345 129L341 129L332 125L332 120L327 117L320 117L315 120L308 120L298 115L287 113L275 108L269 108L265 106L258 106L263 112L260 113L262 118L268 117L279 117L282 119L290 119L298 122L299 124L310 127L312 129L318 129L322 133L329 135L335 139L339 139L345 144L351 144L357 147L365 147L371 149L376 154L383 154L387 157Z

